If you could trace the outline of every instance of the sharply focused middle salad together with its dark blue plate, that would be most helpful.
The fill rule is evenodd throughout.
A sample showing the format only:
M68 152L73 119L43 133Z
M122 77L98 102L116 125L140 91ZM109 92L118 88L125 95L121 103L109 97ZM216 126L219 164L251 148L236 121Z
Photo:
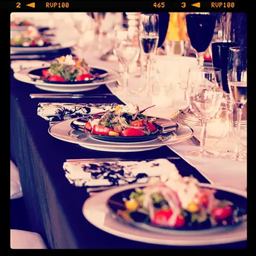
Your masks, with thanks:
M151 106L153 107L153 106ZM148 109L148 108L146 108ZM148 117L138 105L117 105L105 113L87 115L74 120L71 127L90 137L106 142L146 142L159 136L172 136L179 127L176 122Z

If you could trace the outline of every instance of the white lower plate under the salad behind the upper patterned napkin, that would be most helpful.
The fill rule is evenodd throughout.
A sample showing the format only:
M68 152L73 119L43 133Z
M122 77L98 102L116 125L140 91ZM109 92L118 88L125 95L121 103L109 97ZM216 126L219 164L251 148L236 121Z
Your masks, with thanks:
M96 67L93 65L91 65L90 67L104 69L106 72L108 72L108 76L105 78L105 80L92 81L86 84L50 84L44 82L43 80L32 81L32 79L28 76L28 73L33 71L35 68L29 68L14 73L14 77L19 81L26 82L28 84L34 84L39 89L49 90L51 92L84 92L86 90L96 89L102 84L109 84L115 82L120 76L117 71L113 71L112 69L108 69L105 67Z

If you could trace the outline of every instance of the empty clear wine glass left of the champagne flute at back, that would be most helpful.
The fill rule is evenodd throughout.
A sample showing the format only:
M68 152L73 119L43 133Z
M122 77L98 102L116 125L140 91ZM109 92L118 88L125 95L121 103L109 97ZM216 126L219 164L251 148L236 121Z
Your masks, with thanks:
M117 31L115 36L114 55L123 66L123 93L127 93L129 67L138 60L140 48L138 47L138 36L133 31L123 28Z

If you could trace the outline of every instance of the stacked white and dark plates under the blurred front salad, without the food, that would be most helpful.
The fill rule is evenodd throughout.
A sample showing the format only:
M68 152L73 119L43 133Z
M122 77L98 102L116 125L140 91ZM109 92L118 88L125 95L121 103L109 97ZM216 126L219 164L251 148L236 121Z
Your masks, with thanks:
M208 229L179 230L175 228L155 228L152 225L141 222L130 222L121 218L118 209L123 207L123 200L119 200L134 188L141 184L125 185L109 189L90 197L82 207L84 217L97 228L104 230L114 236L126 238L133 241L153 243L171 246L202 246L220 245L247 239L247 222L243 221L236 226L220 226ZM246 207L246 192L236 189L216 187L209 184L201 184L201 187L216 189L219 195L232 199L238 206ZM120 197L121 196L121 197Z

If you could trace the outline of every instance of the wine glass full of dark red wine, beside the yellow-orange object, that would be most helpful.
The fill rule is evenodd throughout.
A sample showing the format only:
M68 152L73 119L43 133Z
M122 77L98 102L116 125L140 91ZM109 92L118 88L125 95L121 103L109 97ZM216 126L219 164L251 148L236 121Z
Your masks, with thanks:
M199 66L204 65L204 52L209 47L214 34L216 16L192 13L186 15L187 31L192 47L196 50Z

